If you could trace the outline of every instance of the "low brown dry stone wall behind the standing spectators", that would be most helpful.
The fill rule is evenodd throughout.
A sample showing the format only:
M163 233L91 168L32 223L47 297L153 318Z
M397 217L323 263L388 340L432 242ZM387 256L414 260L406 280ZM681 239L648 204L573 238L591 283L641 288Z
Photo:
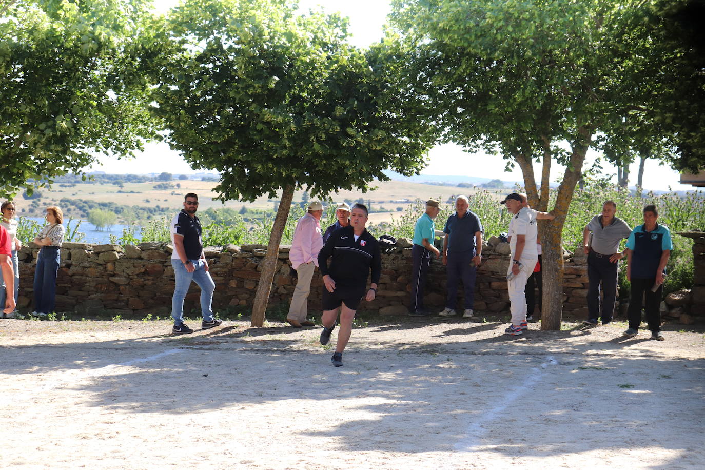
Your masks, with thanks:
M288 261L288 246L279 249L270 304L288 304L296 284L295 271ZM109 314L168 314L173 294L173 268L170 244L142 243L127 245L89 245L64 243L57 277L56 310L76 311L92 315ZM39 247L30 244L20 250L19 307L30 309L32 278ZM227 307L251 307L259 281L259 264L266 252L264 245L228 245L204 249L210 272L216 284L214 311ZM477 273L475 310L479 313L509 312L509 297L505 279L509 264L509 245L491 237L482 250L483 262ZM411 242L398 240L392 252L382 254L382 274L373 302L363 302L360 309L381 315L405 314L409 304L411 273ZM565 255L564 314L587 314L587 265L584 256ZM318 270L312 280L309 310L321 309L323 283ZM458 305L462 306L462 288L458 290ZM200 290L192 284L185 299L185 311L198 307ZM439 259L431 263L425 304L431 311L439 310L446 299L446 270ZM571 315L572 314L572 315Z

